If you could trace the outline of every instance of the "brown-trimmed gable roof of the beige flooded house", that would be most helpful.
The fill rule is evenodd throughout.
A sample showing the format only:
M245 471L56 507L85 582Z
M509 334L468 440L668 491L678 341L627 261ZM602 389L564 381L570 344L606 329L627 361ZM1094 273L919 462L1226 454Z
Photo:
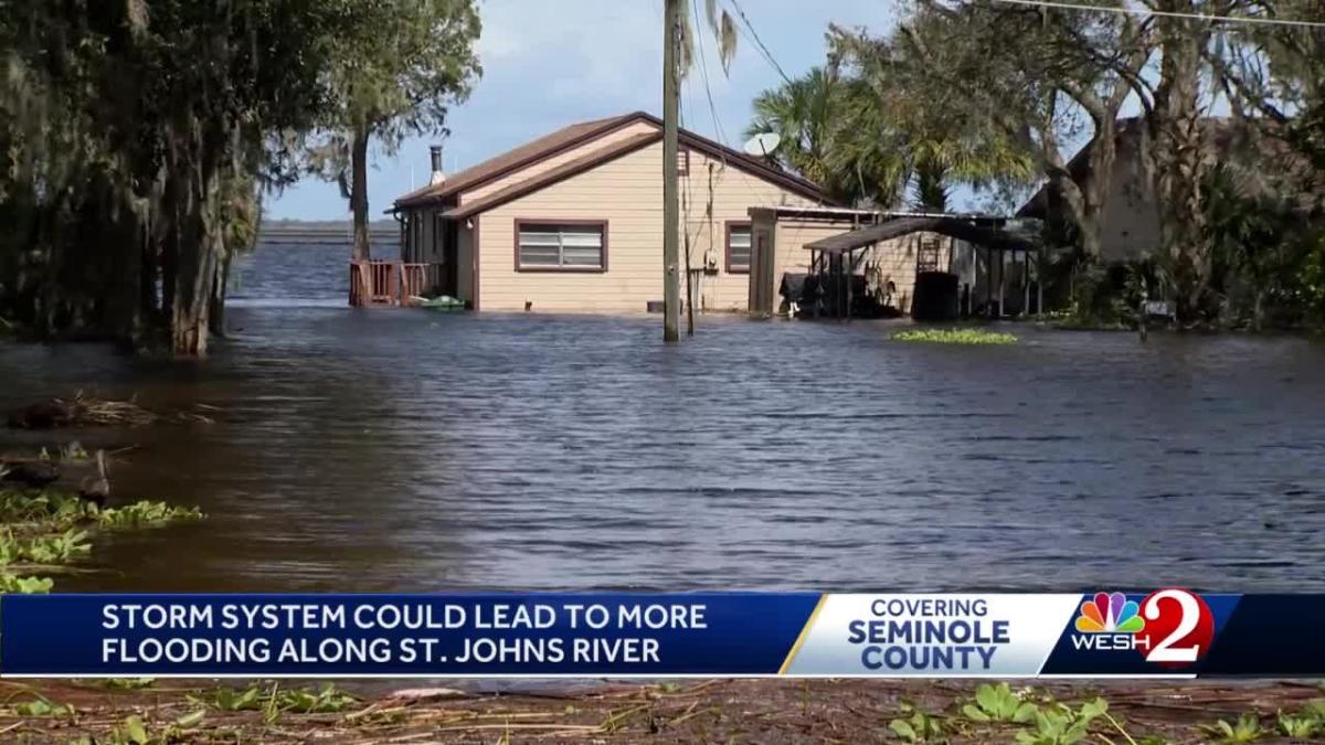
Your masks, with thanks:
M599 139L610 133L617 131L623 127L637 122L647 122L657 129L655 134L641 134L637 137L628 138L621 143L612 143L610 147L603 147L587 152L582 158L576 158L568 163L563 163L547 171L522 182L511 187L504 188L498 192L486 195L473 203L473 205L482 204L481 208L472 208L470 204L465 204L462 211L465 215L474 215L482 212L484 209L490 209L534 191L537 188L543 188L560 179L568 178L578 172L583 172L588 168L619 158L633 150L639 150L652 142L661 139L662 137L662 121L657 117L648 114L645 111L635 111L631 114L624 114L620 117L610 117L606 119L594 119L590 122L579 122L562 127L551 134L543 135L535 141L527 142L514 150L509 150L494 158L489 158L477 166L470 166L458 174L448 176L445 182L436 186L427 186L415 190L395 201L395 208L391 212L400 209L403 207L415 207L420 204L429 204L435 201L441 201L452 196L457 196L462 191L468 191L490 183L501 176L513 174L521 168L531 166L539 160L546 160L555 155L563 154L571 148L579 147L582 144L590 143ZM705 152L712 158L726 160L733 166L746 171L754 176L762 178L765 180L772 182L788 191L814 199L816 201L832 204L832 200L820 190L816 184L806 180L800 176L783 171L782 168L762 160L759 158L753 158L745 152L733 150L719 142L712 141L709 138L697 135L689 130L681 130L678 141L684 147ZM551 178L550 178L551 176ZM531 187L530 184L538 184ZM494 199L502 195L504 199ZM461 208L452 208L452 212L458 212Z

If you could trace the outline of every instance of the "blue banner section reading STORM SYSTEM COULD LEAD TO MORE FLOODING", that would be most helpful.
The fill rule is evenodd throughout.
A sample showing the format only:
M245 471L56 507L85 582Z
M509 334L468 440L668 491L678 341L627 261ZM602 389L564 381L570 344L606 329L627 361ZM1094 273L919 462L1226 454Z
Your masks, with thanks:
M776 673L818 594L8 595L3 676Z

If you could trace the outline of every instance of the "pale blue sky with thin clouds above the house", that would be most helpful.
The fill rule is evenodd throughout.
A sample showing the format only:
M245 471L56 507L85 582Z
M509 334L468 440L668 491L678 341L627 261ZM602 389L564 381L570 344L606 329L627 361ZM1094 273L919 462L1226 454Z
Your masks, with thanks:
M750 103L775 87L782 76L763 58L742 27L731 70L718 65L713 33L702 19L697 38L705 45L709 109L698 66L681 89L685 126L741 147ZM765 46L790 77L822 65L829 23L888 29L893 0L739 0ZM722 5L731 7L730 0ZM484 74L468 101L454 106L444 142L447 172L498 155L572 122L625 114L660 113L662 98L662 0L480 0L484 30L477 49ZM692 19L692 24L693 24ZM698 57L698 54L697 54ZM698 61L697 61L698 65ZM718 131L721 127L721 131ZM370 212L382 211L428 180L428 146L435 138L407 141L394 156L374 151L368 172ZM269 198L272 219L348 219L348 201L333 183L305 179Z

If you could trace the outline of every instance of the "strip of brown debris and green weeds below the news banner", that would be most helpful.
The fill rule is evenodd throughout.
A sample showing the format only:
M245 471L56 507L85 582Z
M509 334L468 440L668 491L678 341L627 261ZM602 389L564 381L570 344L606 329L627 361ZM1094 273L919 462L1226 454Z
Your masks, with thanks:
M235 681L223 681L235 683ZM372 684L380 689L380 683ZM518 687L517 687L518 688ZM1024 685L897 680L712 680L474 693L352 695L303 681L0 681L5 742L1048 742L1035 721L980 721L1003 691L1037 711L1108 703L1083 742L1320 741L1281 732L1316 684ZM30 705L41 701L40 705ZM992 704L991 704L992 705ZM991 709L992 711L992 709ZM1048 717L1047 717L1048 718ZM904 722L904 724L898 724ZM920 730L913 726L920 725ZM1222 724L1220 724L1222 722ZM1224 737L1222 728L1234 733ZM1057 741L1069 740L1059 737Z

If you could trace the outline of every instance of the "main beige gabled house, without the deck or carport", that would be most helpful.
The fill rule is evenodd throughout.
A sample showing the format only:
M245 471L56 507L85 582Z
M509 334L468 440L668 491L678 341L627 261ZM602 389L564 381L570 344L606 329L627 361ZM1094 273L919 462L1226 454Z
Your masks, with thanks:
M694 306L746 310L751 209L832 203L771 160L692 131L681 130L677 158L681 268ZM432 170L428 186L390 211L408 293L452 296L474 310L645 312L662 300L659 118L636 111L571 125L457 174L441 172L435 150ZM849 212L783 228L778 256L804 255L792 243L851 229Z

